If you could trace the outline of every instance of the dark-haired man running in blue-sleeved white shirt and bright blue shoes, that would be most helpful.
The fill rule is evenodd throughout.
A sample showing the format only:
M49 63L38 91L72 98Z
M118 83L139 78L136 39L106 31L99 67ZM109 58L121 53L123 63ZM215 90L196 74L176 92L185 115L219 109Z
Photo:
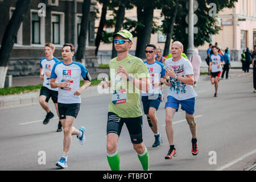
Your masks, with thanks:
M63 157L56 162L56 166L67 168L68 151L71 146L71 135L77 135L80 144L85 142L85 128L79 130L73 127L73 122L80 109L80 95L83 90L90 86L90 75L84 65L72 60L75 53L73 44L64 44L61 55L63 61L56 63L52 69L51 86L59 88L58 109L60 121L64 129ZM84 85L80 87L80 77L84 78ZM57 83L56 83L57 80Z

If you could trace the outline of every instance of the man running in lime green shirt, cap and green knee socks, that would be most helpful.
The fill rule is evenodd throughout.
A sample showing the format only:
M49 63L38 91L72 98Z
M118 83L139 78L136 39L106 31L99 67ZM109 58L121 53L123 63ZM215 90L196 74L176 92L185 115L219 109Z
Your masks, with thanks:
M117 57L109 61L110 81L101 82L103 88L111 86L107 123L107 158L114 171L120 170L117 143L123 123L126 124L134 150L144 170L148 170L148 151L142 140L142 109L139 90L150 90L150 75L141 59L128 54L133 35L121 30L113 35Z

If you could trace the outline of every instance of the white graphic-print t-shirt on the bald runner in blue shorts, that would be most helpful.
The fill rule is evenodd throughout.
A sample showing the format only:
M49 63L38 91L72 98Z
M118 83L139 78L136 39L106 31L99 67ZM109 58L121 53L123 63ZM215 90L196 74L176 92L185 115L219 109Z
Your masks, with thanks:
M172 61L172 58L167 59L165 62L166 69L172 68L176 75L187 77L187 75L193 75L193 67L189 60L185 57L181 57L178 61ZM177 100L186 100L196 97L197 94L192 85L184 84L183 82L170 77L171 86L168 90L168 96L172 96Z

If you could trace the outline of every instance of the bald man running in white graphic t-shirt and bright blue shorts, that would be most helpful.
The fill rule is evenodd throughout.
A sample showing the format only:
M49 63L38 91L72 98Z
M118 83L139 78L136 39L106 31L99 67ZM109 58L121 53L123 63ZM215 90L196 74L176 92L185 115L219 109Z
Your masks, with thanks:
M175 112L179 109L185 110L185 118L189 124L192 134L192 155L197 155L198 144L196 139L195 100L196 92L193 90L194 78L193 67L189 60L181 56L183 44L174 42L171 46L172 58L167 59L164 64L166 68L167 86L170 86L166 102L166 134L170 144L170 150L165 159L172 159L177 155L174 147L174 128L172 120Z

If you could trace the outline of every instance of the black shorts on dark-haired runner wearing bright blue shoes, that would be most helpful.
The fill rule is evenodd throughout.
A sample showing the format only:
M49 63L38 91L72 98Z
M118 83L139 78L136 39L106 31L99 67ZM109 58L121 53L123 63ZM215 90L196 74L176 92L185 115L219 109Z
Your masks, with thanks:
M79 113L80 104L62 104L58 103L58 110L60 114L60 119L65 119L66 115L70 115L74 118L77 117L77 114Z

